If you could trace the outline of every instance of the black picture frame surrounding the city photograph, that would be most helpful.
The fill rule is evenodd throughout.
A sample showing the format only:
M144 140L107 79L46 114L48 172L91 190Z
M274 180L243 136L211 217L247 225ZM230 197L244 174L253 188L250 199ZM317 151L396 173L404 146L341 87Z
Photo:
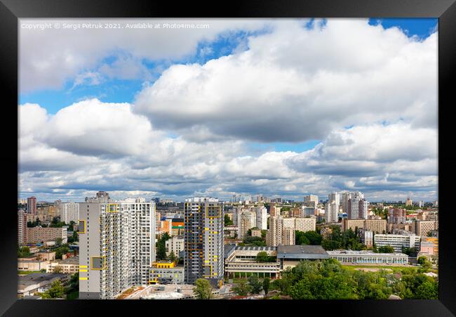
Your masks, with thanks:
M439 217L439 299L364 301L66 301L17 300L17 209L18 195L18 18L438 18L438 189L443 212ZM1 164L4 171L0 313L5 316L87 316L119 312L169 314L194 311L198 314L316 313L337 316L453 316L456 314L456 278L453 271L456 248L451 218L452 181L456 155L453 150L454 119L450 79L456 70L455 0L288 0L229 1L205 4L185 1L110 0L0 0L0 83L4 93ZM6 98L5 98L6 97ZM6 124L8 123L8 124ZM4 136L7 136L6 138ZM196 307L199 306L199 307Z

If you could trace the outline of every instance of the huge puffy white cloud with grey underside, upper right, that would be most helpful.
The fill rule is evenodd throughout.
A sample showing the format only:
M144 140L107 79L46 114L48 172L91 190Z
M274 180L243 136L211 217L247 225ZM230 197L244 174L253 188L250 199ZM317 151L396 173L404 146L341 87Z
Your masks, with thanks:
M307 141L352 124L436 127L437 34L424 41L368 20L290 20L250 37L248 50L204 65L173 65L134 111L191 138ZM213 136L211 136L213 137Z

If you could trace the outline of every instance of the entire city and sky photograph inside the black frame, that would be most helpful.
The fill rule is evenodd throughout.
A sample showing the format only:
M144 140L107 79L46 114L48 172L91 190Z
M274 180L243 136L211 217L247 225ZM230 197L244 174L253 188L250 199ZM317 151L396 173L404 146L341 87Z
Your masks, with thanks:
M438 19L18 27L18 298L438 299Z

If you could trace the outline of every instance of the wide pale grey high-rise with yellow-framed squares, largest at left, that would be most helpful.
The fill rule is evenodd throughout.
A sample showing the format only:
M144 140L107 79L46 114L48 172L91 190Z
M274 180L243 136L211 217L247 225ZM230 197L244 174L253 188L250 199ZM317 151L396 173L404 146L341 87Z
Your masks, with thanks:
M79 299L114 299L129 287L149 283L155 261L154 202L81 202L78 230Z

